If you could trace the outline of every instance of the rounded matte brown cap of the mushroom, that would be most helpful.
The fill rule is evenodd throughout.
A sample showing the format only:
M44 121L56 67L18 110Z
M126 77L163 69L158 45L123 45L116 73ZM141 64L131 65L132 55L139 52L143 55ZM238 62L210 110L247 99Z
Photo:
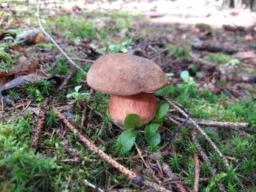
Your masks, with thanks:
M90 67L87 83L106 94L132 95L159 90L168 82L160 66L130 54L106 54Z

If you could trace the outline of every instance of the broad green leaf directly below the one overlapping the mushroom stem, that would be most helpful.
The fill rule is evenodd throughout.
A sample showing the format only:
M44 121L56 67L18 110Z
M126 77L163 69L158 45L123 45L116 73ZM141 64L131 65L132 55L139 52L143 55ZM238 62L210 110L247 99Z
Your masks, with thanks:
M136 136L136 130L130 129L122 131L115 145L119 155L127 154L131 150L134 146Z

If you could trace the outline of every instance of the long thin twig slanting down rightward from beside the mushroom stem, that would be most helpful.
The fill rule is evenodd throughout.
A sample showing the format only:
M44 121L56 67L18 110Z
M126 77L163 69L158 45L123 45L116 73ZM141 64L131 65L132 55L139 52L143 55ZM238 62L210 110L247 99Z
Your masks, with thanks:
M186 112L184 110L182 110L178 105L176 105L174 102L169 101L166 98L165 98L165 100L166 100L166 102L169 102L169 104L171 106L173 106L176 110L178 110L181 114L183 114L185 117L187 117ZM204 130L202 130L202 128L200 126L198 126L198 124L196 122L194 122L194 120L192 118L189 119L189 122L191 122L191 124L200 132L200 134L202 134L202 136L204 136L204 138L206 138L206 140L208 142L210 142L210 146L212 146L212 148L222 158L222 161L224 162L226 168L230 168L230 164L229 164L228 160L222 154L222 152L220 150L218 150L218 147L214 144L214 142L211 140L211 138L209 138L209 136L206 134L206 132Z

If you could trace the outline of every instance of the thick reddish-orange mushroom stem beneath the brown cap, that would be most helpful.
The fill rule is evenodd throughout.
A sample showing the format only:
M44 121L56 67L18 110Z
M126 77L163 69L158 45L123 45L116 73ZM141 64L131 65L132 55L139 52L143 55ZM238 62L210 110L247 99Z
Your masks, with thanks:
M138 114L142 124L150 122L157 110L154 93L140 93L129 96L110 95L109 113L115 122L123 124L126 114Z

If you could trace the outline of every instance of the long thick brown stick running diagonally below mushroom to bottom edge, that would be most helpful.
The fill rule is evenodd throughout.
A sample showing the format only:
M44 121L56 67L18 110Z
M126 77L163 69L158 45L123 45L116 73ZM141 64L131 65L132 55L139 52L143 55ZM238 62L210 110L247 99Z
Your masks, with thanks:
M72 130L74 134L77 135L77 138L80 140L80 142L83 142L89 148L89 150L96 152L98 155L104 158L106 162L109 162L111 166L114 166L122 174L125 174L128 178L132 179L134 183L142 186L148 186L155 191L170 192L170 190L166 190L166 188L159 186L154 182L143 180L142 176L135 174L134 172L128 170L125 166L122 166L118 162L114 161L113 158L110 158L108 154L105 154L102 150L99 150L98 147L95 146L92 142L90 142L86 137L84 137L82 134L79 134L78 130L75 129L74 126L72 126L71 123L66 119L66 117L62 115L55 107L54 107L54 112L58 115L58 118L60 118L62 122L64 122L65 125L70 130Z

